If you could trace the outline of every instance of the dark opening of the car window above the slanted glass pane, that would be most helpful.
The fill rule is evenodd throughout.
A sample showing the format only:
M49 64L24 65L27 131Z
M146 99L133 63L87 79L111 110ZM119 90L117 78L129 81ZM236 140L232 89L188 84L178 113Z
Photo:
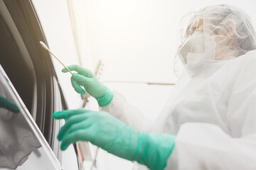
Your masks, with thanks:
M6 74L26 104L28 111L31 111L33 103L32 70L29 70L11 30L9 30L1 15L0 37L0 64L4 67Z

